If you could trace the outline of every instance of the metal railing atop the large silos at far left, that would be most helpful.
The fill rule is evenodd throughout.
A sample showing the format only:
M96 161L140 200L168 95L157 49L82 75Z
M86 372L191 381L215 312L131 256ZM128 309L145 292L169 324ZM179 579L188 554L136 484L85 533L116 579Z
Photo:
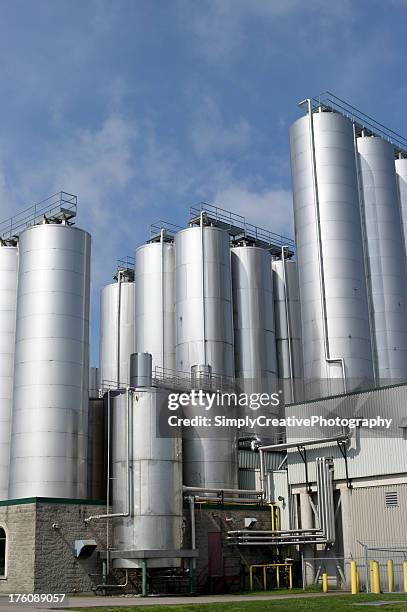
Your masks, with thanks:
M0 239L18 238L19 234L32 225L44 220L60 223L76 217L78 199L76 195L58 191L52 196L18 212L9 219L0 222Z

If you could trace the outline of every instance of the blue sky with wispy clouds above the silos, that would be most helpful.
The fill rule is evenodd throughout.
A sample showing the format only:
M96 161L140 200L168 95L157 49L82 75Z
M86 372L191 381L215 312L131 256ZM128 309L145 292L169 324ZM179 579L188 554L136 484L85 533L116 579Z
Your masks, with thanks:
M99 290L205 200L293 234L287 130L330 89L407 134L405 0L0 0L1 218L64 189Z

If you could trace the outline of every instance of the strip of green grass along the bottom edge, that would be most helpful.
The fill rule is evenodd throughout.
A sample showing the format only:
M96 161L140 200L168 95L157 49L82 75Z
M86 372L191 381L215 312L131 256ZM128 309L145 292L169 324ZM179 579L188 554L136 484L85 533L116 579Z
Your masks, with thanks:
M394 601L394 604L386 605L383 608L377 606L358 605L368 601ZM403 603L396 603L402 601ZM329 597L308 597L303 599L286 599L274 601L237 601L228 603L210 603L210 604L186 604L186 605L151 605L151 606L136 606L130 608L80 608L81 611L89 612L262 612L270 610L271 612L308 612L316 610L317 612L368 612L371 610L383 609L389 612L407 611L407 595L392 594L388 595L338 595Z

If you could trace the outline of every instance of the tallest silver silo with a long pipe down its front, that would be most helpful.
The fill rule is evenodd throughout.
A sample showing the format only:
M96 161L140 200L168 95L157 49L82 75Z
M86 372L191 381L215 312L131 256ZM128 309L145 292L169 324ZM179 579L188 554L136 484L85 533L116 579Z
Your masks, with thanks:
M308 112L290 149L304 379L317 397L373 380L352 123Z

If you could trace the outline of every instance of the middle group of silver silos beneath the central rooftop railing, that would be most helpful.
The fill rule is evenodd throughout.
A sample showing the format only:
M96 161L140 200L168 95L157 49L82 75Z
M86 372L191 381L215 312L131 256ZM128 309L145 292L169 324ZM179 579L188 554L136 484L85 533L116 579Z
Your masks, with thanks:
M266 249L248 244L231 248L227 231L201 220L174 238L161 231L141 246L134 286L135 350L151 353L153 375L171 379L174 370L190 375L198 368L210 372L214 388L230 390L236 378L239 390L256 393L275 392L280 375L293 399L289 381L301 376L294 355L301 342L294 262L272 262ZM113 287L117 291L117 283ZM113 299L111 311L104 308L105 291L101 325L109 327L117 324L118 302ZM119 332L125 336L129 330ZM108 329L103 335L109 336ZM117 356L116 343L117 337L110 354ZM101 344L101 365L106 350ZM126 367L132 352L128 346ZM191 407L185 412L199 414ZM236 406L225 416L237 416ZM236 488L237 431L184 430L183 468L187 485Z

